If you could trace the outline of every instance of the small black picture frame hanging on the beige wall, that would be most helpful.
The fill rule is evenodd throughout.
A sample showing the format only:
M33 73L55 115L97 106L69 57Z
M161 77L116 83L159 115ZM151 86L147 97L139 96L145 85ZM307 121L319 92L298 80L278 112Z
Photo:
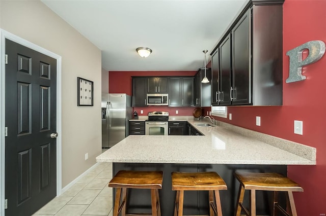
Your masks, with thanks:
M93 106L94 82L77 77L77 106Z

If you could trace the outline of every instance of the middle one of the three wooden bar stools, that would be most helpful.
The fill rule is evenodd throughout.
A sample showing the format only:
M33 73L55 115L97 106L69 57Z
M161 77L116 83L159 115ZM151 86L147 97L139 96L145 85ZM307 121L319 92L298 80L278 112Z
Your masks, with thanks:
M183 215L184 191L209 191L209 215L222 216L220 190L227 190L227 186L218 173L172 172L172 190L177 191L174 216Z

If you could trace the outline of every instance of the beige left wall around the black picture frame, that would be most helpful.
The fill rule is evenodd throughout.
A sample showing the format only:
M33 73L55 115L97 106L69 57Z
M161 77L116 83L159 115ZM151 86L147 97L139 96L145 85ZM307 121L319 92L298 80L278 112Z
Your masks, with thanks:
M101 153L101 51L40 1L2 1L0 26L62 57L62 187ZM77 106L77 77L94 81L94 106ZM89 159L85 161L85 154Z

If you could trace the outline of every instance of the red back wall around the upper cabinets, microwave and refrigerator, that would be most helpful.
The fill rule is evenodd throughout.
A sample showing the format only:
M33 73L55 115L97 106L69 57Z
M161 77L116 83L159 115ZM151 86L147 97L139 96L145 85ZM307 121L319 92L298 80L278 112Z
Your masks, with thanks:
M132 95L132 80L134 76L194 76L197 71L110 71L108 92L126 93ZM122 80L122 81L119 81ZM170 116L192 116L195 107L143 106L134 107L140 116L147 116L151 111L167 111ZM141 114L143 110L143 114ZM178 111L178 114L175 112Z

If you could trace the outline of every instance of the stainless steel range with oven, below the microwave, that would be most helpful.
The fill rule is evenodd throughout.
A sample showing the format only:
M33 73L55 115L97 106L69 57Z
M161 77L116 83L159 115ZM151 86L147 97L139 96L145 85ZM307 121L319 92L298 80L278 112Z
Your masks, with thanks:
M168 135L169 112L149 112L145 135Z

